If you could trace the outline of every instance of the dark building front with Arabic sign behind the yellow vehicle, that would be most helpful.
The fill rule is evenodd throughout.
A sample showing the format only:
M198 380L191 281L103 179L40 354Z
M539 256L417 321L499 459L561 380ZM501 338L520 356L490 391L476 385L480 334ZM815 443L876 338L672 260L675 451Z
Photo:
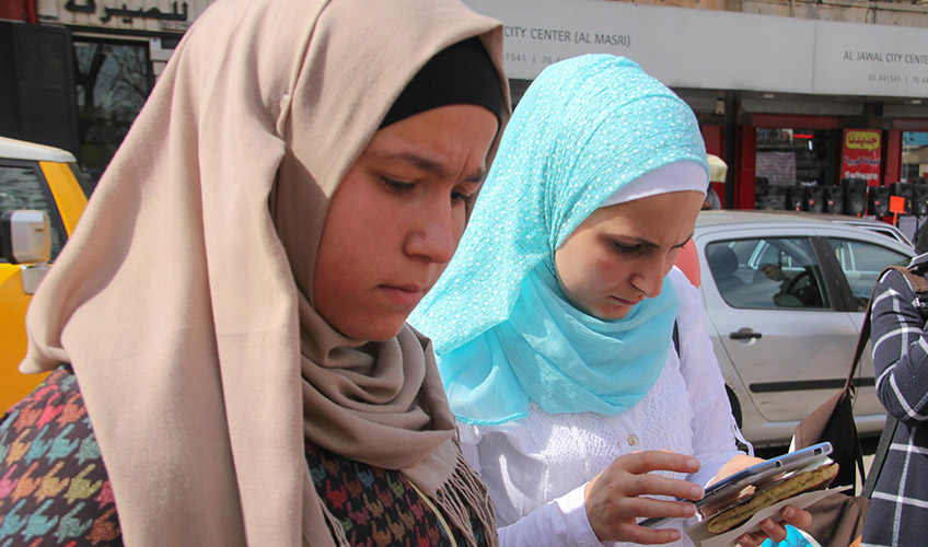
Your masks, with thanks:
M4 1L0 135L65 148L96 179L211 1Z

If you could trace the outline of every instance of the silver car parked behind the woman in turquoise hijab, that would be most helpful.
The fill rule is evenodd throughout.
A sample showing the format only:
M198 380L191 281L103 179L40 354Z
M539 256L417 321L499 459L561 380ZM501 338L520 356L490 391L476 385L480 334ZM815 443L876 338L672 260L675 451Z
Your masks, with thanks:
M878 275L914 255L910 245L882 233L888 224L855 220L699 213L693 240L709 334L732 412L752 443L789 443L799 420L837 393ZM857 381L858 430L877 435L885 412L869 347Z

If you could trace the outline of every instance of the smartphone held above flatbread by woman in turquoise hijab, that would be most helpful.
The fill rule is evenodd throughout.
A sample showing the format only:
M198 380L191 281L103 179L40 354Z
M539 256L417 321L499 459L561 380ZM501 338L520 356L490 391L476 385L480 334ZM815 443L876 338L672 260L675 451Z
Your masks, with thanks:
M786 476L791 472L796 472L804 467L812 467L813 465L817 466L824 464L831 453L832 443L824 442L754 464L751 467L742 469L708 487L703 494L703 499L693 501L696 505L696 512L697 514L700 513L701 509L709 504L718 507L718 510L715 512L722 511L731 503L736 502L741 491L749 486L761 486L774 482L786 478ZM708 517L711 515L703 516ZM657 528L675 519L681 517L661 516L645 519L639 521L638 525L648 528Z

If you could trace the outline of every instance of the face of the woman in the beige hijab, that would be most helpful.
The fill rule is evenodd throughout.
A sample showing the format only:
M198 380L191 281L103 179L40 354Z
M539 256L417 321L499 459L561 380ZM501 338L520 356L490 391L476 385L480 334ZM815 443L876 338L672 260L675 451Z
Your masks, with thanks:
M457 248L497 128L490 110L451 105L374 133L323 226L313 293L329 325L360 340L399 331Z

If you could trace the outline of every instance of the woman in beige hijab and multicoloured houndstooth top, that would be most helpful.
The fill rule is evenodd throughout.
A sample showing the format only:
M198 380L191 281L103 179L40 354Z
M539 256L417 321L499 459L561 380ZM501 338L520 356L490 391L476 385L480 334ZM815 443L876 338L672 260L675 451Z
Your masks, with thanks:
M496 543L405 318L509 117L501 36L450 0L198 19L33 301L0 545Z

